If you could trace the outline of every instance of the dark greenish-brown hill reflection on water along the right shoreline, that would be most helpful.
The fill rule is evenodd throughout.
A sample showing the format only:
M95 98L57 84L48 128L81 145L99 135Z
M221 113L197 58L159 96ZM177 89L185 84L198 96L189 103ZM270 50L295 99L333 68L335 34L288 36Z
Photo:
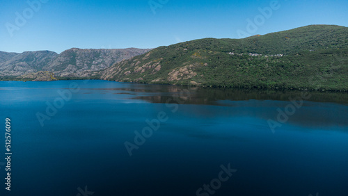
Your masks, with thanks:
M106 90L106 89L100 89ZM141 95L132 99L141 99L150 103L166 103L168 100L180 100L178 104L219 105L219 101L275 100L290 101L303 94L309 99L305 101L330 102L348 105L348 93L316 92L316 91L282 91L282 90L244 90L223 88L200 88L177 85L132 85L132 88L112 88L120 90L116 94Z

